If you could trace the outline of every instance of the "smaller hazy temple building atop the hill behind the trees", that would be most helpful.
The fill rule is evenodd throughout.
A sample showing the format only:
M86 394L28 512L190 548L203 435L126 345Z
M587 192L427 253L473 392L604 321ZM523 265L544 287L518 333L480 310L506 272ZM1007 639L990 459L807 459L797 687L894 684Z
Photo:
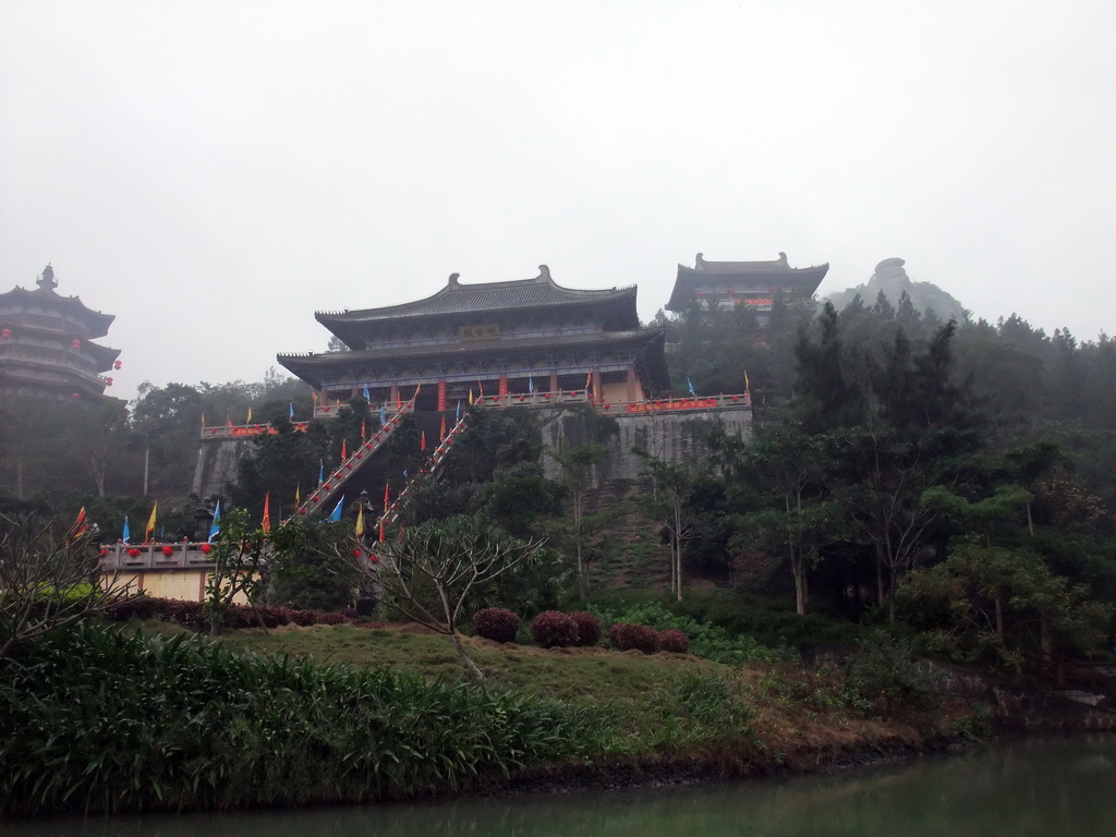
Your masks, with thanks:
M698 253L694 267L679 264L666 310L683 311L692 300L710 308L747 306L763 321L777 299L808 301L828 270L828 262L792 268L782 252L776 261L705 261Z

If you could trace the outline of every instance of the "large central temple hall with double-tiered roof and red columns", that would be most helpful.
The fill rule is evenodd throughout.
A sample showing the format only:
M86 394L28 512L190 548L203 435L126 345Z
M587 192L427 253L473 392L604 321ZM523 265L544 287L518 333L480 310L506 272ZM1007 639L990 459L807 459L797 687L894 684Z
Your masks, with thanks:
M514 281L464 285L453 273L425 299L315 318L349 350L277 359L319 403L417 389L416 410L445 411L482 395L589 389L631 403L670 388L663 331L641 327L635 287L564 288L545 264Z

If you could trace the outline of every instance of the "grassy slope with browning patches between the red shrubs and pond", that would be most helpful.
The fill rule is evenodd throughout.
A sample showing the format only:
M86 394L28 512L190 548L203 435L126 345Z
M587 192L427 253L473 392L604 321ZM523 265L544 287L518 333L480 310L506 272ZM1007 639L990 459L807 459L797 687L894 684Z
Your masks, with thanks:
M462 676L446 637L394 626L240 631L222 642L319 662ZM917 748L951 722L949 712L881 718L878 706L850 699L839 676L795 666L735 668L679 654L465 643L491 687L604 708L610 754L619 762L696 758L724 775L812 769L849 752Z

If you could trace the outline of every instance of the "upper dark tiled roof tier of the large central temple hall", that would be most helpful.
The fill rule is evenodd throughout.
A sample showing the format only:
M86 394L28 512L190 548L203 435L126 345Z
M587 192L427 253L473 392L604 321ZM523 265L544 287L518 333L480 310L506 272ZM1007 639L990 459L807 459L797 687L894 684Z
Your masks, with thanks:
M407 317L432 317L440 315L470 314L525 308L543 308L565 305L600 304L618 300L632 308L633 325L638 323L635 312L636 288L608 288L604 290L575 290L557 285L550 278L545 264L533 279L518 279L507 282L462 285L458 275L450 277L449 283L433 296L415 302L365 308L354 311L318 311L315 317L333 330L334 326L374 324L387 319ZM349 330L349 329L345 329Z

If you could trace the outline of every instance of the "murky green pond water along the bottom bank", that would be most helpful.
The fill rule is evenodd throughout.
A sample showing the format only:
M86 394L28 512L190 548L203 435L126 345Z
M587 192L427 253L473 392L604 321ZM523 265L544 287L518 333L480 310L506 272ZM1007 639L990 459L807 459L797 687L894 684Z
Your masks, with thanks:
M57 818L2 837L1116 837L1116 737L1031 739L829 776L232 814Z

